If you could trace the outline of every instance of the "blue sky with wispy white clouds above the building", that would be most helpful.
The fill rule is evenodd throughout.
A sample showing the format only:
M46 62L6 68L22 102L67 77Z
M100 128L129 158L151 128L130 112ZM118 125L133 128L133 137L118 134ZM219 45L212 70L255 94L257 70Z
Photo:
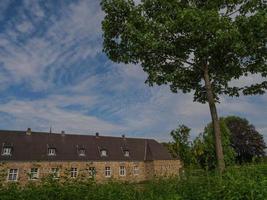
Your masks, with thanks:
M138 65L102 51L99 0L0 1L0 129L154 138L211 121L192 94L149 87ZM252 76L235 85L257 82ZM267 94L221 96L220 116L247 118L267 141Z

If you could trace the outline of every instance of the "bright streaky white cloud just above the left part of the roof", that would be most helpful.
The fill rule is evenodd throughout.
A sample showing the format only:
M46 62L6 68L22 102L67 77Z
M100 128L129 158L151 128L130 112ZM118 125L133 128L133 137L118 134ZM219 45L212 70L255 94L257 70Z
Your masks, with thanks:
M0 112L13 117L12 129L26 130L27 127L33 130L49 130L74 133L114 133L121 132L123 127L106 122L93 116L85 115L81 112L69 111L60 108L63 105L72 103L90 105L88 97L78 97L77 99L64 96L51 96L42 100L11 100L0 105Z

